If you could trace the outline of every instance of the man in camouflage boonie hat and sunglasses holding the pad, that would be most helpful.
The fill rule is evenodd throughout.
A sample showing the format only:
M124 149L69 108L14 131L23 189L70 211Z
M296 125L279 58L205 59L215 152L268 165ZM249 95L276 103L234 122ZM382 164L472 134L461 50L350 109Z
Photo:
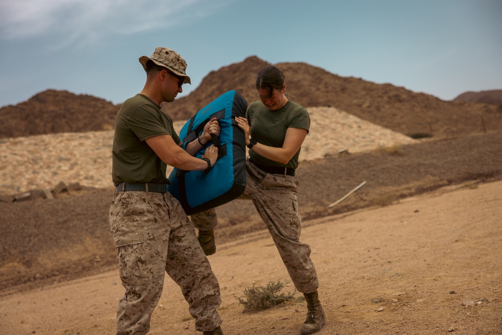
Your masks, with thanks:
M140 57L147 73L143 90L123 102L115 121L112 179L116 186L109 211L117 248L119 275L126 289L117 309L117 335L142 335L162 293L164 276L180 286L205 335L221 335L216 308L221 304L216 276L204 255L190 219L166 190L166 167L206 170L216 163L210 145L202 159L194 155L219 136L216 119L196 140L182 144L162 102L174 101L183 83L190 83L186 61L174 50L158 47ZM166 333L176 333L166 329Z

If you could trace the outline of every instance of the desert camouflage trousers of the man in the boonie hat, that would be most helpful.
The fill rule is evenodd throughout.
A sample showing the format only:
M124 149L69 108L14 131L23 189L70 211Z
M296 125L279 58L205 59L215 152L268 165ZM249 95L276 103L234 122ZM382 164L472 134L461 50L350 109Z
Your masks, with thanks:
M178 200L170 193L117 192L109 221L126 289L118 303L117 335L150 330L166 272L180 286L195 329L209 331L221 324L218 281Z

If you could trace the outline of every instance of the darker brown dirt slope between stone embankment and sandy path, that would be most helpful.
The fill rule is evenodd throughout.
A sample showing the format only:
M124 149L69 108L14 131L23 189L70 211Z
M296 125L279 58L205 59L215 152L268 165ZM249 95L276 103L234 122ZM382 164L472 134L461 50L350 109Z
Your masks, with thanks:
M444 186L500 180L501 152L502 133L493 133L306 162L297 172L301 214L313 219L388 205ZM352 196L328 207L362 181L366 184ZM87 189L52 200L0 202L0 294L113 266L112 192ZM247 201L220 206L218 215L221 242L263 229Z

